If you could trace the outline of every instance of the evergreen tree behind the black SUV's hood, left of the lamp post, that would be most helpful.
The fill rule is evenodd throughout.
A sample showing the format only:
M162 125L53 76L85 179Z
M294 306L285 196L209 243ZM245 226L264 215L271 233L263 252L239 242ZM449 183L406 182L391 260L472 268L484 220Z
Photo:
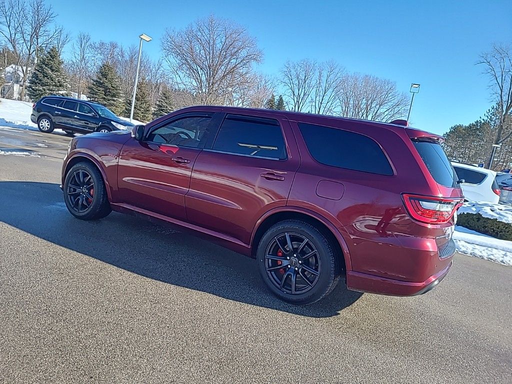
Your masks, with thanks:
M121 82L113 66L105 62L89 86L89 100L106 106L116 115L122 112Z

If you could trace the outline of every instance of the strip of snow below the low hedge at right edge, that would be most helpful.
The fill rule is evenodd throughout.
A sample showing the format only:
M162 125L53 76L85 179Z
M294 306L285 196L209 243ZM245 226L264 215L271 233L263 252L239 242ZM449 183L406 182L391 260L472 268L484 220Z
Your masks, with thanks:
M495 239L460 226L455 227L453 240L460 253L512 266L512 241Z

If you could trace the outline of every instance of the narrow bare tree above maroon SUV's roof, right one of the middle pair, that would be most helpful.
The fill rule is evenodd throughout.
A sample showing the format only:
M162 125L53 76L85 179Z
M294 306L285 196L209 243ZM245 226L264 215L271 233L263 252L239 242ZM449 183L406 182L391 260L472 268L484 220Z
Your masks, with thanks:
M319 63L311 93L314 113L332 115L337 110L337 94L343 77L343 69L331 60Z

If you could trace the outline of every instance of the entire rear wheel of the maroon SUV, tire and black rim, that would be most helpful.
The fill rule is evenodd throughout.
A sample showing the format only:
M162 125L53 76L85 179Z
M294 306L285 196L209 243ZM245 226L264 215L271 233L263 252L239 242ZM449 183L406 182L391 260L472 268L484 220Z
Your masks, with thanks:
M263 235L258 266L267 288L292 304L312 304L327 296L339 280L339 255L313 225L286 220Z

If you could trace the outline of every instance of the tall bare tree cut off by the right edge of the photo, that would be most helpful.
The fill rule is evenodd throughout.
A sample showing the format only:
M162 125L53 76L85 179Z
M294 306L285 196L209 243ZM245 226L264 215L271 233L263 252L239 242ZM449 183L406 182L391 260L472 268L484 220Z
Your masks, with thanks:
M512 130L506 129L512 114L512 47L495 44L489 52L480 55L477 65L483 65L483 73L489 77L489 89L498 113L494 144L501 144L512 136ZM492 157L493 151L490 151L487 167Z

